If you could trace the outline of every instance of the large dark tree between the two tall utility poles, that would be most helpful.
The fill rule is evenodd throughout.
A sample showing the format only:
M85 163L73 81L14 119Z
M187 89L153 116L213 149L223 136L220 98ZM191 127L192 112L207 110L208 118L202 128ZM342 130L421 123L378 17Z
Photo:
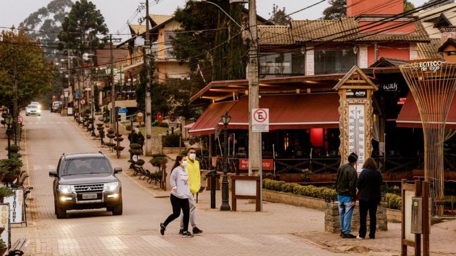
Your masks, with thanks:
M241 23L241 5L222 0L212 2ZM205 71L207 82L245 78L242 30L216 6L187 2L184 8L176 10L174 19L180 23L180 29L172 37L173 54L179 61L188 62L191 77L198 83L192 92L205 85L196 73L198 66Z

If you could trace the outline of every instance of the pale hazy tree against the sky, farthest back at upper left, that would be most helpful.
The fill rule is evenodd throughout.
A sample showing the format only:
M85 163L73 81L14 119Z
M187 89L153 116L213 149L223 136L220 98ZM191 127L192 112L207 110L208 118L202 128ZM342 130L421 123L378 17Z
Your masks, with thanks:
M71 0L54 0L19 24L19 28L26 30L32 38L40 39L47 59L61 59L57 55L57 33L62 30L62 23L68 16L68 11L65 10L69 10L72 5Z

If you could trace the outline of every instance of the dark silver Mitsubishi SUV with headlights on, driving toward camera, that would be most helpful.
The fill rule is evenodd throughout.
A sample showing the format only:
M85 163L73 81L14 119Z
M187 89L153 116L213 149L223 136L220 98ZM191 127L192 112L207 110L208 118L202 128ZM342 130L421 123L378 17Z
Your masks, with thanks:
M66 210L104 208L113 215L122 215L122 185L102 152L63 154L54 177L54 207L57 219L66 218Z

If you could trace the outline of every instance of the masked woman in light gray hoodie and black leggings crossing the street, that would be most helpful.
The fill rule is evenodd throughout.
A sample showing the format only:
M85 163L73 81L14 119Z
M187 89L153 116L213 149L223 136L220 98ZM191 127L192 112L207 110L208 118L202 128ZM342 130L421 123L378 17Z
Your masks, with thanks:
M193 234L188 232L188 219L190 216L188 198L193 195L190 192L190 186L188 185L188 172L185 169L186 165L187 159L185 156L178 155L171 176L169 177L169 184L171 185L170 200L173 207L173 213L168 216L165 222L160 223L160 234L162 234L162 236L165 235L168 224L177 219L180 216L180 210L182 210L184 222L182 237L193 237Z

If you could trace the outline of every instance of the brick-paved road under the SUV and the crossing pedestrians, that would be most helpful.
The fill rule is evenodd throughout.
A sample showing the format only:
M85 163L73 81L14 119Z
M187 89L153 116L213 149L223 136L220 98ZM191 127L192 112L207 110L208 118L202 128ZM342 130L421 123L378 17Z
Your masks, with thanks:
M171 213L169 198L140 186L142 181L124 172L118 175L123 186L124 212L112 216L105 209L72 210L68 218L57 220L54 215L52 178L62 153L96 152L99 142L77 126L71 117L61 117L44 111L41 117L24 118L25 140L21 153L24 168L30 177L26 185L34 189L27 198L28 227L13 225L12 241L27 237L31 243L28 255L332 255L344 253L327 250L301 235L303 230L323 230L323 223L313 222L321 216L318 210L284 204L276 210L252 212L252 204L243 203L238 212L222 212L207 207L208 193L198 205L197 219L202 235L182 238L177 222L169 225L165 236L159 233L159 223ZM2 144L4 141L2 141ZM106 150L103 148L103 150ZM128 152L121 159L107 154L115 166L128 166ZM143 182L142 182L143 183ZM219 200L219 199L218 199ZM219 201L218 201L219 202ZM281 209L280 209L281 208ZM293 216L293 217L292 217ZM296 217L302 222L296 222ZM334 236L337 238L337 236ZM345 252L346 253L346 252Z

